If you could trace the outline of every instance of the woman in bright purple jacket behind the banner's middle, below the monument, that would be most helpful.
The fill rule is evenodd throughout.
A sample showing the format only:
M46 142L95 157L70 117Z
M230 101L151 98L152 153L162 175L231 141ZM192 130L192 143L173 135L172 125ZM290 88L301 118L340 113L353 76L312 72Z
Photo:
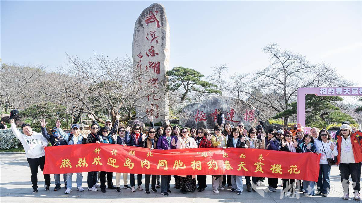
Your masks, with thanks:
M174 150L176 149L177 137L173 134L171 125L166 125L162 136L157 141L157 150ZM170 190L170 175L161 175L161 194L168 196Z

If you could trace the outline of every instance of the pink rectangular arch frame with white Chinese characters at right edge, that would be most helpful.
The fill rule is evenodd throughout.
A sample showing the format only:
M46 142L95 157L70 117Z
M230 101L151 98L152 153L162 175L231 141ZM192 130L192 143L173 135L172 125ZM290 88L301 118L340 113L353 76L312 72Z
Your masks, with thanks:
M297 96L297 122L306 126L306 95L362 96L362 87L301 87Z

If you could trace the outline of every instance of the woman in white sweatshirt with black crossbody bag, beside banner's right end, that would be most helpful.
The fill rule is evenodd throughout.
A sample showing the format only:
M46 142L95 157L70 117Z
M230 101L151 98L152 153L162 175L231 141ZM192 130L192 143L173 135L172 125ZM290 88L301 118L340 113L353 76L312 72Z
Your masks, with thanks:
M312 133L312 131L311 131ZM313 136L314 138L314 136ZM319 161L319 176L317 182L317 195L328 196L329 188L331 187L329 181L329 174L331 173L331 166L328 164L328 158L338 155L336 143L330 141L331 135L328 131L322 129L319 132L318 139L314 142L317 152L321 154Z

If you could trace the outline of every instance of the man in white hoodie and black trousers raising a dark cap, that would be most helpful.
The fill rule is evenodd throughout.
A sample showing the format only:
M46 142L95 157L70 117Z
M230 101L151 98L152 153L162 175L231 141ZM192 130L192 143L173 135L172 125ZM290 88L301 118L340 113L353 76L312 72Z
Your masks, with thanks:
M10 120L11 130L16 138L18 138L24 147L25 156L28 160L31 171L31 183L33 184L33 193L38 193L38 167L43 171L45 164L45 151L44 148L48 146L48 141L41 133L37 133L30 128L30 124L23 124L21 126L23 133L16 128L14 119ZM49 191L50 175L44 174L45 190Z

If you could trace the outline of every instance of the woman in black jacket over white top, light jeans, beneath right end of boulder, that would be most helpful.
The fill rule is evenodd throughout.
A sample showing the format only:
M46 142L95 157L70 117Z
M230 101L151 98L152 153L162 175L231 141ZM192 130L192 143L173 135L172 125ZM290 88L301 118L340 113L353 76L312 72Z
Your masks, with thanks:
M232 138L229 138L226 143L226 147L223 147L223 150L226 148L247 148L245 145L245 138L239 127L235 127L231 130ZM243 193L243 176L231 176L231 192L235 192L238 195Z

